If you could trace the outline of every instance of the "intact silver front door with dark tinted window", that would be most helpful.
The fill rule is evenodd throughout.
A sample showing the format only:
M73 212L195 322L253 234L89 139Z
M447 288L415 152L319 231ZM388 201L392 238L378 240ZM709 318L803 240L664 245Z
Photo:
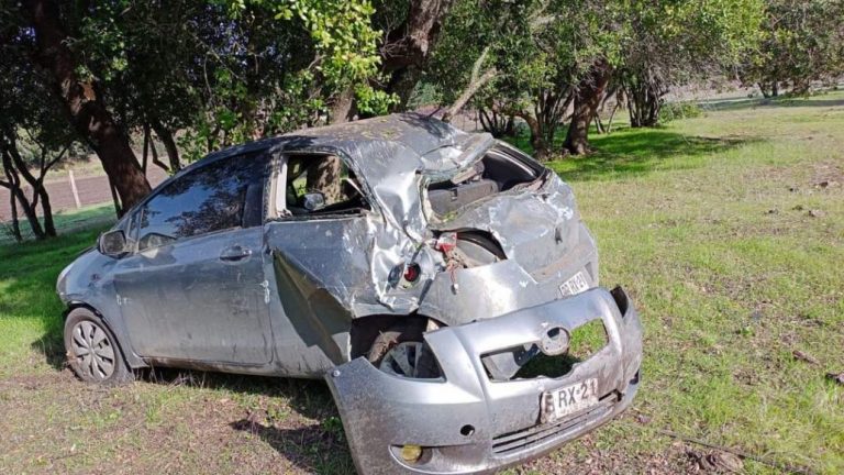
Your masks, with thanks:
M165 363L271 361L262 230L267 167L265 154L213 162L136 211L136 251L120 259L114 277L136 354Z

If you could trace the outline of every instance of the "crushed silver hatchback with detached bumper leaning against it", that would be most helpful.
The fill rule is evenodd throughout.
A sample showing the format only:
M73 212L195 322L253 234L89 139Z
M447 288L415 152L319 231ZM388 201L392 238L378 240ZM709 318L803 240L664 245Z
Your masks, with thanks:
M488 134L395 114L213 153L65 268L82 379L322 378L362 474L487 473L630 406L642 329L571 189Z

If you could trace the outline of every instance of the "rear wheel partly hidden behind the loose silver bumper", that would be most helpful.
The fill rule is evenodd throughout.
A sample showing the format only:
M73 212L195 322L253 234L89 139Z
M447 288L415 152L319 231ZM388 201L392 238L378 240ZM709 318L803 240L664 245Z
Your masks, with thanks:
M433 353L424 342L423 332L424 327L414 325L410 322L393 325L378 334L367 353L367 360L369 360L373 366L397 376L414 378L438 377L441 374L440 367ZM392 361L407 357L408 350L413 353L420 352L419 358L411 358L412 374L399 371L400 365L391 364ZM395 366L395 369L389 369L389 366ZM404 367L407 368L407 366Z

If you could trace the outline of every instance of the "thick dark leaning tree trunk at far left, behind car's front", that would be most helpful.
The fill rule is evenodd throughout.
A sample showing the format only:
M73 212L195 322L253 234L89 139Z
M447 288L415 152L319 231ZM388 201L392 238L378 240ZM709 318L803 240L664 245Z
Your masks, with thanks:
M127 209L149 192L127 137L98 97L93 82L77 75L78 65L67 46L71 38L63 29L55 1L26 0L23 7L35 32L37 60L53 76L71 124L97 152L123 209Z

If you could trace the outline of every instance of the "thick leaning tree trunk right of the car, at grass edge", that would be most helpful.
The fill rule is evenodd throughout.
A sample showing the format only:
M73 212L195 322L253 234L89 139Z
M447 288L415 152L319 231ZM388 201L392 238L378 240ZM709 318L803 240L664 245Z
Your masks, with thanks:
M578 85L578 90L575 92L571 123L563 145L569 153L574 155L589 153L589 124L601 103L603 91L611 75L612 66L601 58L589 68L587 77Z

